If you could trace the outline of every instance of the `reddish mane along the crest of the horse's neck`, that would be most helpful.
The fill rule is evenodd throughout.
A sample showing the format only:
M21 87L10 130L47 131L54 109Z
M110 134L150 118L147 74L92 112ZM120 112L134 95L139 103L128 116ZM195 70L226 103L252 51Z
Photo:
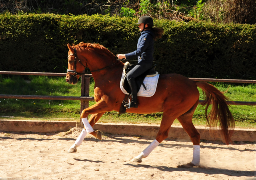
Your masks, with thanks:
M98 54L104 54L108 56L110 59L116 60L115 55L110 52L107 48L100 44L96 43L84 43L80 42L79 44L73 46L74 48L80 48L80 49L93 49L95 50Z

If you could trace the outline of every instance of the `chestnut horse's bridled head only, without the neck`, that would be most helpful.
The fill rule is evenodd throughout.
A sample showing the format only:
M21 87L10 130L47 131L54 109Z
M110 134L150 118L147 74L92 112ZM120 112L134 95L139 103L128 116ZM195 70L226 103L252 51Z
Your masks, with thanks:
M82 60L82 56L78 58L78 55L76 53L76 48L68 45L68 70L67 70L67 76L66 76L66 82L69 84L76 84L78 82L78 78L83 74L84 69L86 66L86 63L82 63L80 60Z

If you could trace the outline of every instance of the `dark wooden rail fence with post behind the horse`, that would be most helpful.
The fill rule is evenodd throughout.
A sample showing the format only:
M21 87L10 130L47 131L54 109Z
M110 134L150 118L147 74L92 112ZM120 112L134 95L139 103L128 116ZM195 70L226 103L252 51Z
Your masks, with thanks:
M66 73L50 73L50 72L11 72L11 71L0 71L0 74L12 74L12 75L37 75L37 76L66 76ZM90 78L92 74L82 75L81 80L81 96L36 96L36 95L7 95L0 94L0 98L10 99L46 99L46 100L80 100L80 113L85 108L89 107L89 101L94 101L93 97L89 97L90 90ZM209 79L209 78L190 78L194 81L204 82L231 82L231 83L256 83L256 80L235 80L235 79ZM200 100L201 104L203 101ZM228 101L230 105L252 105L255 106L256 102L247 101ZM80 124L82 121L80 120Z

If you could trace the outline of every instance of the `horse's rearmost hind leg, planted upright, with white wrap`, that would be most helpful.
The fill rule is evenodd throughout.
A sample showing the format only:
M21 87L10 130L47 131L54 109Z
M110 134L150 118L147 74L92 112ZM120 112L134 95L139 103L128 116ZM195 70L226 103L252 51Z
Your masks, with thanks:
M177 166L178 168L192 168L193 166L198 166L200 163L200 134L192 123L192 116L196 110L197 104L198 103L194 104L194 106L188 112L177 118L193 142L192 162Z

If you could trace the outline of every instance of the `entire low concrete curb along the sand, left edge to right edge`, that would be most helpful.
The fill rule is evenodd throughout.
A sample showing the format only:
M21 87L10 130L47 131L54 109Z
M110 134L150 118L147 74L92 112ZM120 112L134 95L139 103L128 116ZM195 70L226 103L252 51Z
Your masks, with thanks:
M68 121L25 121L25 120L0 120L0 131L14 132L62 132L70 130L70 127L79 126L78 122ZM129 136L146 136L155 138L160 125L150 124L114 124L98 123L93 127L95 130L111 134L126 134ZM219 130L210 134L209 129L196 127L200 133L201 140L222 140ZM188 134L182 126L172 126L168 134L168 139L190 140ZM256 142L255 129L235 129L232 136L233 141Z

